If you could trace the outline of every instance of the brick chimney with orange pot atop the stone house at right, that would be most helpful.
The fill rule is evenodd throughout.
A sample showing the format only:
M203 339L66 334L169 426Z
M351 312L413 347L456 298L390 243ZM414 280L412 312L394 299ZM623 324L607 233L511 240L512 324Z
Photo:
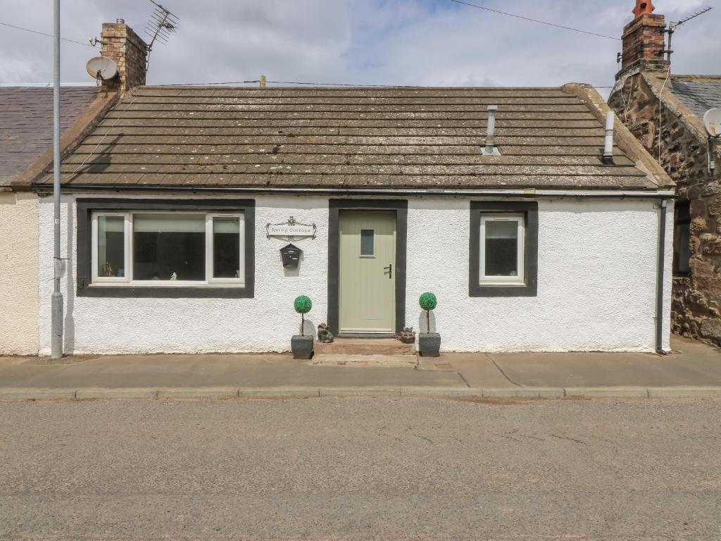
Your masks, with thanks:
M667 71L669 62L664 57L665 27L663 15L653 14L653 2L636 0L634 19L624 27L621 71L619 79L627 71Z

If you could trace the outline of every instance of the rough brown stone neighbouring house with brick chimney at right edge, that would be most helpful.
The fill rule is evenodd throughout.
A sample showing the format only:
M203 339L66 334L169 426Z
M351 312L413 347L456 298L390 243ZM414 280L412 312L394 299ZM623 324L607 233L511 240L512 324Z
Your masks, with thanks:
M721 107L721 76L675 75L665 17L653 6L627 25L609 105L676 182L673 332L721 345L721 149L704 113Z

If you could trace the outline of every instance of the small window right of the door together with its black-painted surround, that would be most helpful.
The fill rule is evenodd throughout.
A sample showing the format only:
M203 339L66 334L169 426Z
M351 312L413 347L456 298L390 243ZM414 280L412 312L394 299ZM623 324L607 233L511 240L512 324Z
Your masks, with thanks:
M538 203L472 201L470 296L536 296Z

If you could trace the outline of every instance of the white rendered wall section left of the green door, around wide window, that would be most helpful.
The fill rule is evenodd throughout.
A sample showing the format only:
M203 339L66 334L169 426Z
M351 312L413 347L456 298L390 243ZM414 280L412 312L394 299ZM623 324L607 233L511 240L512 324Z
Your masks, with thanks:
M76 209L73 196L63 197L63 257L72 255L62 280L66 353L289 350L291 336L300 329L301 317L293 310L296 296L306 294L313 301L306 329L308 320L317 326L327 314L328 203L324 198L257 197L255 205L254 299L103 299L75 295ZM51 199L43 200L40 294L47 299L53 286L52 213ZM288 216L318 226L317 239L293 242L304 252L298 271L283 270L278 250L288 242L265 237L265 224L285 222ZM43 353L50 351L48 308L49 303L41 304Z

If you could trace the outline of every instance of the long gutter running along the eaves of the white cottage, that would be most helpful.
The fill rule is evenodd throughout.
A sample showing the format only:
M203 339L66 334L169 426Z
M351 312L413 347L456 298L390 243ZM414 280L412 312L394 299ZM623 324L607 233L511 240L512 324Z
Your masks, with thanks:
M35 187L38 195L49 195L46 187ZM167 186L167 185L66 185L66 190L92 190L114 192L182 192L182 193L282 193L291 195L432 195L450 197L508 197L508 198L598 198L598 199L661 199L676 197L673 190L462 190L456 188L296 188L286 186Z

